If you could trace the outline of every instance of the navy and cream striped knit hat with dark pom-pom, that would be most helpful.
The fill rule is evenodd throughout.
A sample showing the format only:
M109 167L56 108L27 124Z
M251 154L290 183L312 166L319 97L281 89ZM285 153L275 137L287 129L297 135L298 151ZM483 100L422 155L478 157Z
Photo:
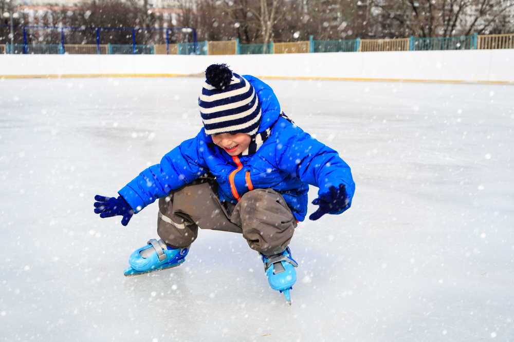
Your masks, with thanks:
M253 86L226 64L205 71L198 98L205 134L246 133L255 137L261 125L261 104Z

